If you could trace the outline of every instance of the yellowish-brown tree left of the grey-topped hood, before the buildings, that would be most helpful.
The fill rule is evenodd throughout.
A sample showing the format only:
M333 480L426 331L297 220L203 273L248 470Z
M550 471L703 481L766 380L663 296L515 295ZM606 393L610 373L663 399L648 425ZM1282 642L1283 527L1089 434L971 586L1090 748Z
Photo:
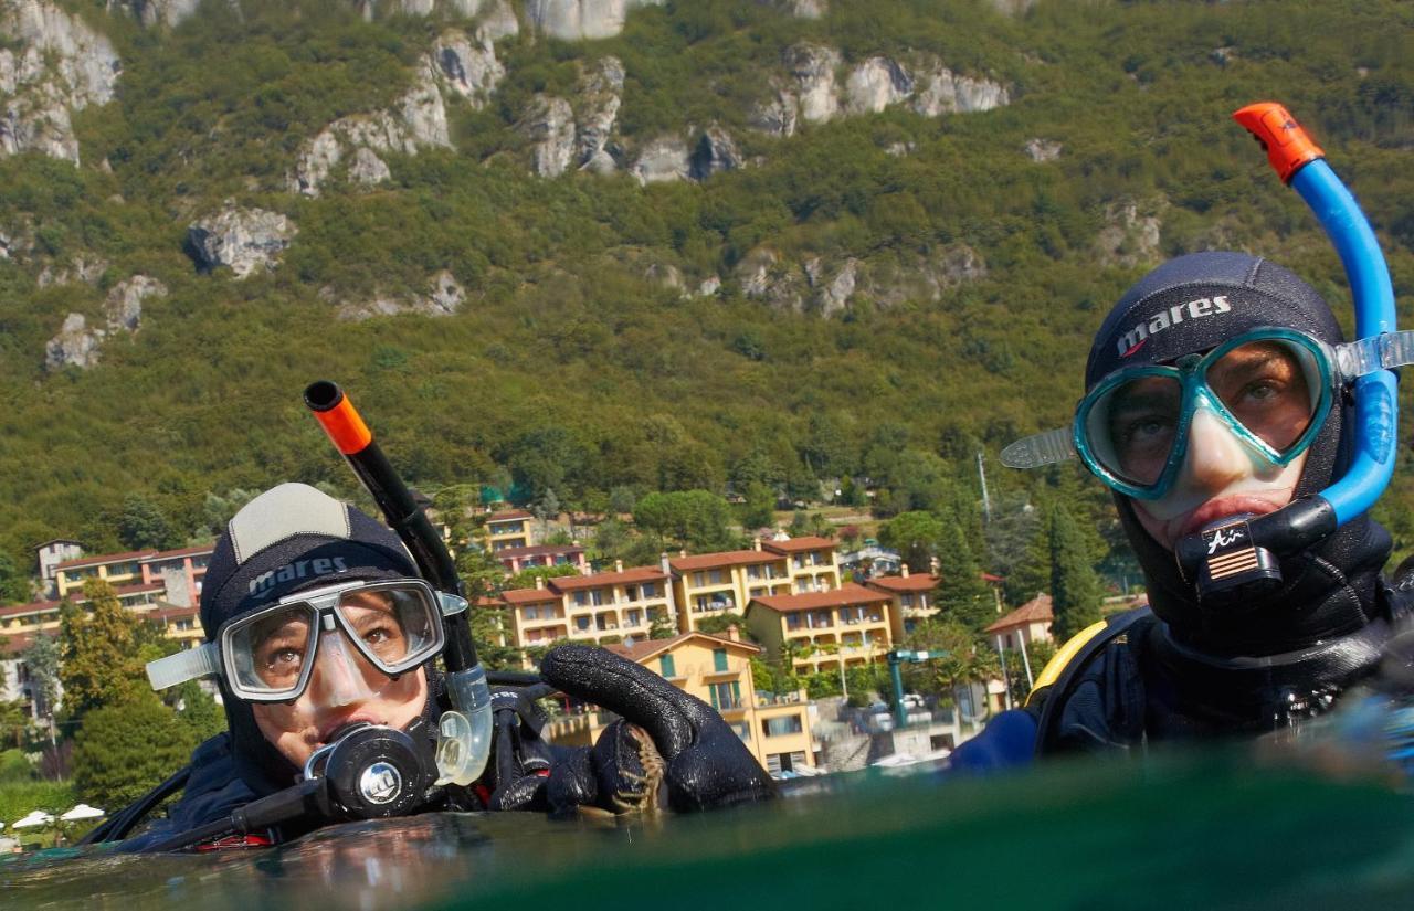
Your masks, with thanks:
M59 607L59 682L65 709L75 719L146 689L141 621L102 579L86 579L83 596L82 606L65 602Z

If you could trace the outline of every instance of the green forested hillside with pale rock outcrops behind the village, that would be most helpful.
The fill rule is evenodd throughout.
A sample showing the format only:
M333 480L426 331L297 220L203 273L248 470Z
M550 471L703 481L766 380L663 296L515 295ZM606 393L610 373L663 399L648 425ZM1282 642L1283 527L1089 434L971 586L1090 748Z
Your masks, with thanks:
M1244 249L1348 319L1333 251L1229 119L1253 100L1319 138L1410 318L1394 0L669 0L602 28L540 0L38 6L44 28L0 0L17 565L119 547L134 494L188 538L233 489L352 493L314 379L426 487L602 508L868 475L884 513L976 510L981 451L1004 507L1051 486L1103 527L1082 469L994 456L1068 419L1128 282ZM1406 551L1411 468L1381 511Z

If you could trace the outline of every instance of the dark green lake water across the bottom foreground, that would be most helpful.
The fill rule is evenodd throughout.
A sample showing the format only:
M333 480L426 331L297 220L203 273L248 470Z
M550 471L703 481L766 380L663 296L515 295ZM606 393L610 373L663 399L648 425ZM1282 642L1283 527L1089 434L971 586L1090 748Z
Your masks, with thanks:
M656 822L431 814L221 855L0 860L3 908L1414 905L1414 799L1253 751L812 782Z

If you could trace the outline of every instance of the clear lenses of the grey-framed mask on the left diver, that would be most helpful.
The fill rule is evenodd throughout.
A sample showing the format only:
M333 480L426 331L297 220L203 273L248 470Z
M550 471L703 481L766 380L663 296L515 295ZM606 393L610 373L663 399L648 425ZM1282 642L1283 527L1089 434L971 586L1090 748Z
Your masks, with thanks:
M222 653L236 695L280 701L304 692L315 658L321 682L346 678L366 688L427 661L443 641L431 589L376 583L311 592L245 617L223 631Z

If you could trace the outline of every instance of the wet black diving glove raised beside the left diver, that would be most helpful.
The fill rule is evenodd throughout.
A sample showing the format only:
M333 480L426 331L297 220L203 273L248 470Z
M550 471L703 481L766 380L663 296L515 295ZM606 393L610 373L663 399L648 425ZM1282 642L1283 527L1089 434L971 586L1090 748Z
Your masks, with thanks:
M652 671L604 648L563 645L546 654L540 675L621 719L590 749L556 750L547 777L505 781L495 808L652 812L666 804L684 812L775 797L775 784L737 732Z

